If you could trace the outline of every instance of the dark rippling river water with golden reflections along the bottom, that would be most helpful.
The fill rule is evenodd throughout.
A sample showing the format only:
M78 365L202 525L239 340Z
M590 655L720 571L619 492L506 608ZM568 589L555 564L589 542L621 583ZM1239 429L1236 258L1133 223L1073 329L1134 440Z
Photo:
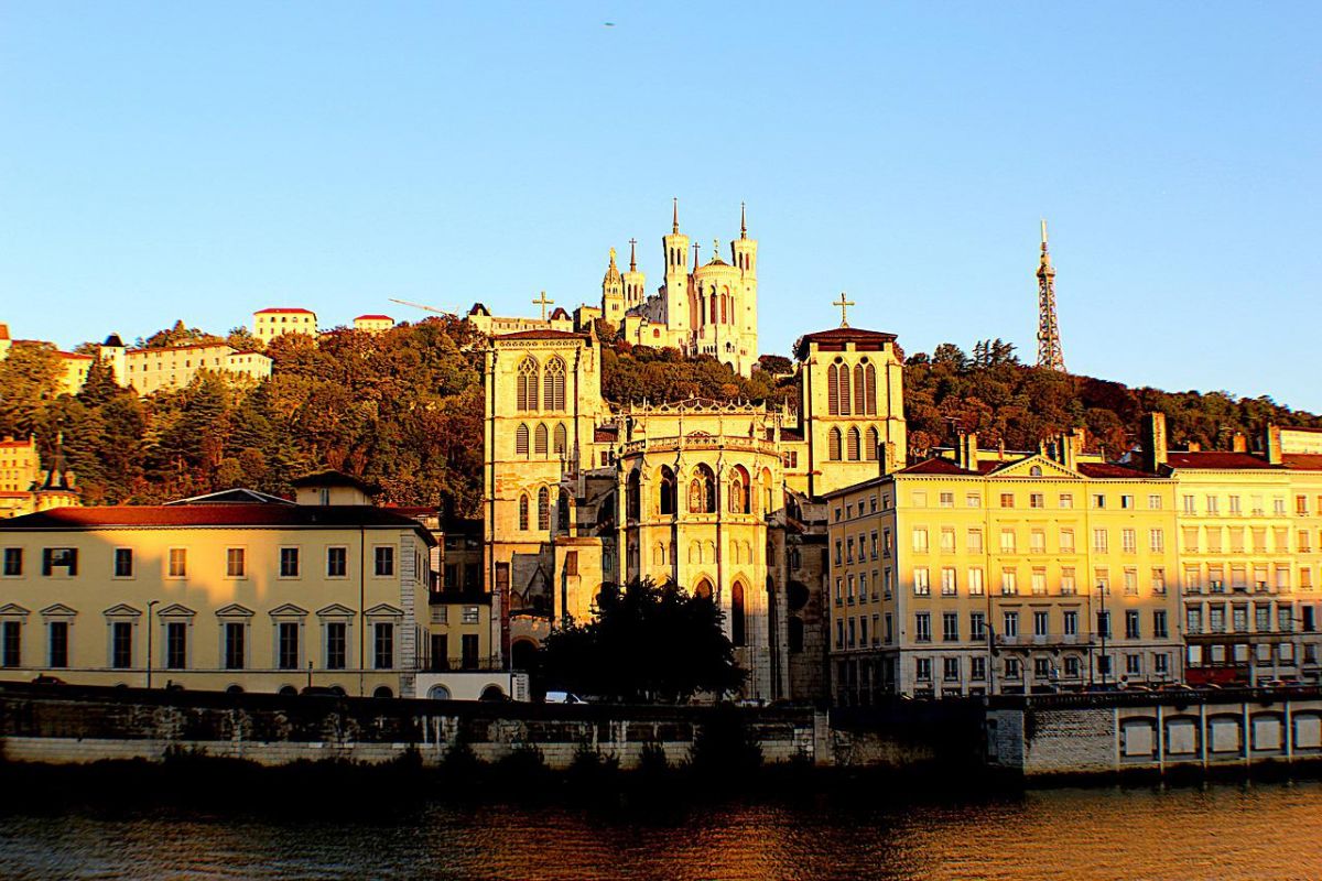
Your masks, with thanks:
M9 810L16 795L5 794ZM908 802L891 795L880 807L869 806L866 791L664 811L428 803L389 820L329 823L272 820L270 812L8 814L0 816L0 874L1319 878L1322 783L1050 789Z

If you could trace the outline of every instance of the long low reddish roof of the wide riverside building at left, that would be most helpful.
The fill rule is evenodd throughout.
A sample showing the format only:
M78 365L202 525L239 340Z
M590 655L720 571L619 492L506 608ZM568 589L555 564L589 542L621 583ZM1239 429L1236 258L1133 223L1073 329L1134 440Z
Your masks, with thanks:
M58 507L0 520L0 532L97 528L406 528L435 544L412 518L370 505L107 505Z

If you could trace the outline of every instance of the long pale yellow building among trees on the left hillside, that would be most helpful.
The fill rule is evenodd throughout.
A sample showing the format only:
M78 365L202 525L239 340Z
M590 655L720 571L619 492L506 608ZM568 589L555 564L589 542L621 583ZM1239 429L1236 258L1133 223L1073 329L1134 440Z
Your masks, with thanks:
M231 380L256 383L271 375L271 358L259 351L238 351L223 342L204 342L167 349L128 349L111 334L98 349L115 371L115 380L139 395L163 388L184 388L200 370Z

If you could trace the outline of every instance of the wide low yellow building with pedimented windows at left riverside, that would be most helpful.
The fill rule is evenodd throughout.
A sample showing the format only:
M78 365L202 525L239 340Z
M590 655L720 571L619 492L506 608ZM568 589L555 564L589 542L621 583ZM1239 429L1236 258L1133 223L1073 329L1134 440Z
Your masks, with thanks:
M432 543L383 509L247 490L4 520L0 676L412 696Z

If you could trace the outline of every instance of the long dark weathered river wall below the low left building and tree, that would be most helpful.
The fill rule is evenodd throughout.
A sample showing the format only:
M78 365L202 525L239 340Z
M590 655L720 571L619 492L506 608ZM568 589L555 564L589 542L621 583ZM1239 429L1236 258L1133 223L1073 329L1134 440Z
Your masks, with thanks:
M732 713L732 716L731 716ZM689 758L705 725L743 725L765 762L829 761L824 717L808 708L488 704L373 697L280 697L112 688L4 686L0 754L49 763L106 758L160 759L167 752L243 758L386 762L410 748L424 763L459 741L481 761L535 746L550 767L567 767L587 745L637 765L654 744L672 762Z

